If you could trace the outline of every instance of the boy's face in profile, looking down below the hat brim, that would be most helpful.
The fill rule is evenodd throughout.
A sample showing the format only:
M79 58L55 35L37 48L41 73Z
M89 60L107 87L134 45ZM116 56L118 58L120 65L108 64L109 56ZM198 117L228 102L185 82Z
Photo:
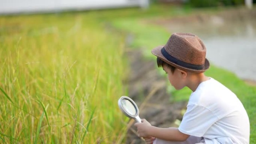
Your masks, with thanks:
M180 90L186 86L186 77L184 77L185 71L176 68L174 72L171 72L171 69L168 68L166 65L163 66L163 70L167 73L168 80L175 89Z

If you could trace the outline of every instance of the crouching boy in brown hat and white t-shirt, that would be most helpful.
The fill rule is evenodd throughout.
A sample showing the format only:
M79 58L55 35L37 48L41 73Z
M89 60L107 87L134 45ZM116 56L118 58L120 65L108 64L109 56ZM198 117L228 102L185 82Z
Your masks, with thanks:
M135 123L139 137L147 144L249 144L246 110L233 92L204 75L210 63L197 36L174 33L152 53L175 89L193 92L179 128L157 128L142 119Z

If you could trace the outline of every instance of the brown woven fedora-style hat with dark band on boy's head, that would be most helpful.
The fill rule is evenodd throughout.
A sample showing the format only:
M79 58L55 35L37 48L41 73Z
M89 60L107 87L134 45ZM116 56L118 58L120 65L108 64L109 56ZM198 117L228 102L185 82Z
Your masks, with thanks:
M165 46L158 46L153 55L176 68L202 73L210 67L206 48L199 37L189 33L174 33Z

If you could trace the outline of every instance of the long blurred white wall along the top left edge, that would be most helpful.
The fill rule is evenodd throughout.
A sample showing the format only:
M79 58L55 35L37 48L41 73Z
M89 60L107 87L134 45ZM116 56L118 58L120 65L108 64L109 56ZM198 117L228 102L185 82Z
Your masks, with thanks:
M0 0L0 13L51 12L147 5L147 0Z

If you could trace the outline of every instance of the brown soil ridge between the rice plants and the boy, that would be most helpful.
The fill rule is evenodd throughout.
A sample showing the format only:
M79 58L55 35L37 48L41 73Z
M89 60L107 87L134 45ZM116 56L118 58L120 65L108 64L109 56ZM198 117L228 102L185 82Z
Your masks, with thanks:
M156 61L143 58L140 50L126 52L130 62L130 74L127 82L129 97L138 105L140 118L146 119L153 126L162 128L177 127L174 122L182 120L182 110L187 102L170 102L167 94L167 78L162 77L156 70ZM127 132L127 144L144 144L137 136L137 129L130 122Z

